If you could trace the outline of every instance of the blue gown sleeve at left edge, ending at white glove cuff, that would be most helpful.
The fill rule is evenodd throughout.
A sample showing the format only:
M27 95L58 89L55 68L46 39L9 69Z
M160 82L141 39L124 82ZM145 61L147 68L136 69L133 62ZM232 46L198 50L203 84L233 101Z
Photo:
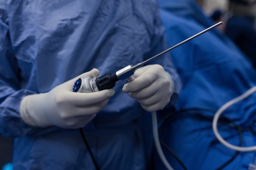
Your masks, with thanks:
M19 114L22 98L36 93L20 89L22 78L17 59L12 53L8 17L0 2L0 133L4 136L23 136L33 127L27 126ZM32 130L33 131L33 130Z

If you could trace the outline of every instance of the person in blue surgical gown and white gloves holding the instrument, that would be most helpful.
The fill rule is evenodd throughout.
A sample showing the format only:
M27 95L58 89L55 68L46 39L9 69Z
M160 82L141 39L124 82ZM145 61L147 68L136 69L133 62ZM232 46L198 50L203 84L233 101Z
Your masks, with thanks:
M152 145L137 122L174 102L170 57L113 89L72 86L165 50L163 31L155 0L1 0L0 133L15 137L14 169L148 169Z

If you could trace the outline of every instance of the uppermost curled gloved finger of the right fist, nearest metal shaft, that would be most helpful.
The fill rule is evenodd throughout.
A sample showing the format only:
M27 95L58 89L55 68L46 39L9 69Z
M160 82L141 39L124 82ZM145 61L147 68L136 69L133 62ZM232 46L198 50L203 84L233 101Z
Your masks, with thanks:
M140 90L148 87L151 85L156 79L158 75L153 73L144 73L138 76L132 82L129 82L123 86L122 91L124 93L135 93L139 92Z

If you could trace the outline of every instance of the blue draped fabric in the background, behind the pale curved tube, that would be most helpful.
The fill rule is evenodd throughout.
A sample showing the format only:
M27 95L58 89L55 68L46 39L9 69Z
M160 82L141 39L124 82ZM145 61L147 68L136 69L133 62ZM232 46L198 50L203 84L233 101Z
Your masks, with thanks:
M198 7L195 8L196 4L192 0L166 0L166 3L160 0L160 2L162 2L160 16L170 46L206 28L206 22L201 24L199 19L193 17L194 13L201 12L198 11ZM176 4L187 4L183 10L189 15L171 10L172 8L167 8L166 4L173 8ZM207 20L206 17L201 17L203 17L201 20ZM164 116L165 114L173 116L163 122L160 137L183 161L188 170L216 170L228 161L235 151L220 144L214 136L212 132L214 111L255 86L256 71L236 46L216 30L186 42L171 51L171 55L183 83L175 109L184 111L175 114L172 113L173 110L162 112ZM230 107L224 116L234 120L242 128L256 129L255 101L256 94L253 94L243 102ZM238 145L237 129L229 128L226 122L219 123L221 135L231 144ZM255 134L243 132L242 145L256 145ZM182 170L179 163L166 150L165 155L175 170ZM239 153L224 170L247 169L243 164L253 163L255 158L256 153ZM155 168L165 169L159 158L156 158Z

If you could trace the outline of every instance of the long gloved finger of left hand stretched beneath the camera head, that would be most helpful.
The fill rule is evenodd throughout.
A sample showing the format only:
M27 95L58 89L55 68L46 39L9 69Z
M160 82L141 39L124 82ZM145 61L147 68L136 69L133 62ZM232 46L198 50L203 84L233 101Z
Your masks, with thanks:
M64 95L65 99L60 101L72 102L75 107L87 107L95 105L109 99L115 94L112 89L102 90L100 92L93 93L73 93L68 92L68 95ZM60 97L62 98L62 97Z

